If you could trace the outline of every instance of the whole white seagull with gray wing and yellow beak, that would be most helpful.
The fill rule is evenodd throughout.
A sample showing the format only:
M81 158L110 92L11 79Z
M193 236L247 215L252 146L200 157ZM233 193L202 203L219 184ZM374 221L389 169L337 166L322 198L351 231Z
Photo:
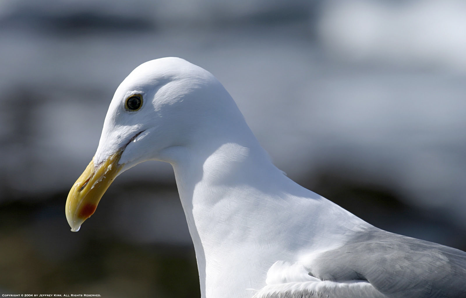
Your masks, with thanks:
M173 167L202 298L466 297L464 251L380 230L289 179L222 84L183 59L145 62L117 88L66 201L71 230L147 160Z

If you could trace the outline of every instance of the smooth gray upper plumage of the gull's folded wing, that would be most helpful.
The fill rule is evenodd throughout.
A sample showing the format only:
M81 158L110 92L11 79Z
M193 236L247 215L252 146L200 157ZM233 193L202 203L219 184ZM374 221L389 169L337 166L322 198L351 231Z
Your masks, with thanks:
M466 252L375 227L323 252L309 271L321 280L366 280L391 298L466 297Z

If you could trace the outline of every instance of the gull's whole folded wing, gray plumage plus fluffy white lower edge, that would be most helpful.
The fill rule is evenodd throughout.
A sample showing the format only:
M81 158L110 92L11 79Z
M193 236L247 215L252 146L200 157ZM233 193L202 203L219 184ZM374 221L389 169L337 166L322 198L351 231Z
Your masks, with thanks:
M466 297L466 252L375 227L305 268L315 280L270 284L254 298Z

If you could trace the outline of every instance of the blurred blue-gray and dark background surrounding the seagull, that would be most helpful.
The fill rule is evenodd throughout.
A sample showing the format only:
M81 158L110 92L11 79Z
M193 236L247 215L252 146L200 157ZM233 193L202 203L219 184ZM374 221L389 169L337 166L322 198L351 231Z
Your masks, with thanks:
M171 166L64 204L139 64L214 74L274 163L379 228L466 250L463 0L0 1L0 293L199 297Z

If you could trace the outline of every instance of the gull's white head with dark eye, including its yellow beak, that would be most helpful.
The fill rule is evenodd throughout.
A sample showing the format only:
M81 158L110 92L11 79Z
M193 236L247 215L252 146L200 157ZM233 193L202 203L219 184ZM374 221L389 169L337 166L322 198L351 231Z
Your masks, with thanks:
M174 163L178 148L215 137L226 118L240 114L231 96L208 71L180 58L161 58L135 68L117 88L94 158L66 202L72 231L96 210L110 183L147 160Z

